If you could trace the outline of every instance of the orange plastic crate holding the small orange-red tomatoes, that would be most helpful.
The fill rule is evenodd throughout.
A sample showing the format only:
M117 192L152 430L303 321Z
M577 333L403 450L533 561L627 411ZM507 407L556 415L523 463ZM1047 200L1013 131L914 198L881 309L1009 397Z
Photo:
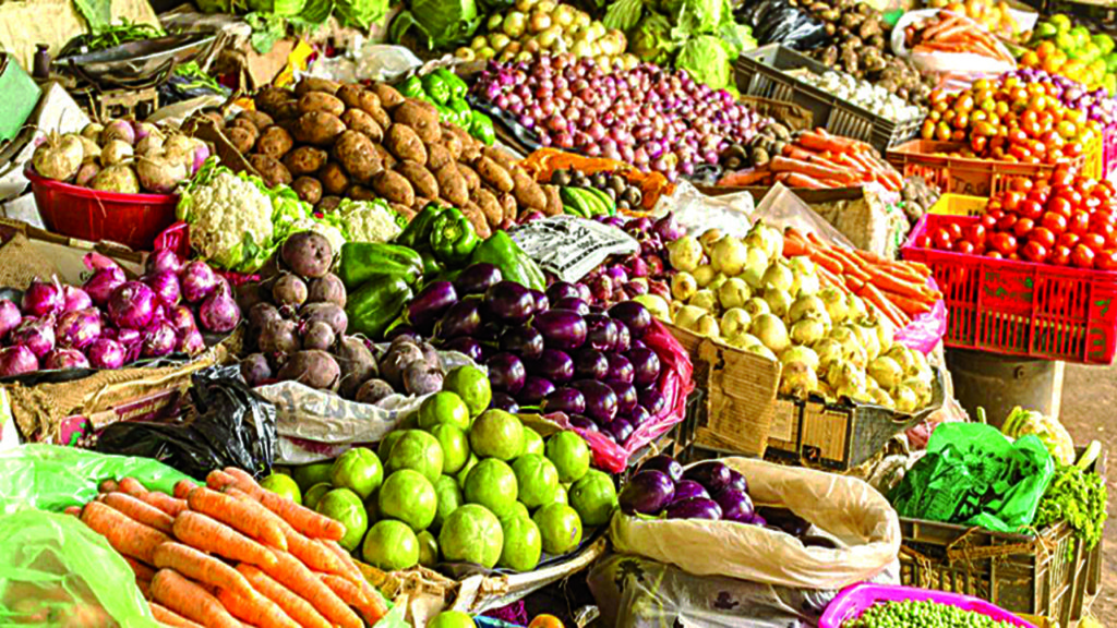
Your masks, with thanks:
M1012 163L986 159L949 156L963 145L957 142L913 140L888 150L888 162L907 179L923 177L943 193L991 197L1004 190L1013 177L1037 177L1053 172L1048 164ZM1068 163L1082 169L1086 155Z

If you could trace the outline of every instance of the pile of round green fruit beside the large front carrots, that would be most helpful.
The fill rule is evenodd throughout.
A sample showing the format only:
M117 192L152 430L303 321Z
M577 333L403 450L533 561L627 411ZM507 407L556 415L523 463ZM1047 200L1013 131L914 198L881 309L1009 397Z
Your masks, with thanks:
M288 496L343 523L342 546L384 571L532 571L544 552L571 552L585 529L608 523L617 488L590 468L577 434L544 440L517 416L488 409L491 397L483 371L459 367L375 451L356 447L268 484L286 484Z

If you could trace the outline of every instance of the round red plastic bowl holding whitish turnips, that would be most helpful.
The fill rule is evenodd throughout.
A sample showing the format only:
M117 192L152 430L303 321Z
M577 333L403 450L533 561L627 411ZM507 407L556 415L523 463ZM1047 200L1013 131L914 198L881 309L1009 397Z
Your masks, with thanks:
M35 204L47 229L97 242L111 240L151 250L155 236L174 223L178 194L122 194L42 178L30 168Z

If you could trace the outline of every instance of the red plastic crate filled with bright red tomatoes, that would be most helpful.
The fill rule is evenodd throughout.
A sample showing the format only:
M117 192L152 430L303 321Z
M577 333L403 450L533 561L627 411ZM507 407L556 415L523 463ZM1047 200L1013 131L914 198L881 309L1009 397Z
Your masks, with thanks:
M930 267L949 313L947 346L1109 364L1117 351L1117 273L919 248L944 225L977 220L928 213L900 249Z

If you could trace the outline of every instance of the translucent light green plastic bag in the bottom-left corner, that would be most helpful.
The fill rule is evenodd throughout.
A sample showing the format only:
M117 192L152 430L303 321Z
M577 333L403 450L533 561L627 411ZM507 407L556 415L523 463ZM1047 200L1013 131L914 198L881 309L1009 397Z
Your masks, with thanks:
M157 628L132 569L77 517L0 515L0 626Z

